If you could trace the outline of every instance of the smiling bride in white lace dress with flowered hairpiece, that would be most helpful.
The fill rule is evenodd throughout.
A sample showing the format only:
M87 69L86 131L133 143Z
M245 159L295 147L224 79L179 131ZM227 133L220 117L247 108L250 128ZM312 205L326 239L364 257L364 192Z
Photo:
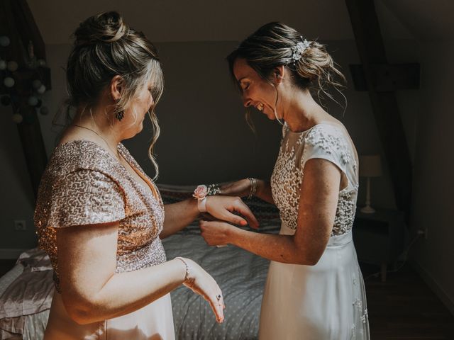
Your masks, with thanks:
M222 194L255 195L279 208L279 235L201 221L209 244L270 259L259 338L370 339L364 281L352 239L358 155L341 122L311 93L339 86L323 45L269 23L229 57L244 106L283 123L271 183L244 179Z

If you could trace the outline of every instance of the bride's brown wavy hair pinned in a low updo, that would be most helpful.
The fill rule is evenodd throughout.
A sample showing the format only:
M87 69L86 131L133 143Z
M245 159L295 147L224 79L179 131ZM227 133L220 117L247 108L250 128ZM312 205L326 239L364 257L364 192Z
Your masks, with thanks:
M327 96L333 101L336 101L329 93L328 87L331 86L341 93L341 89L345 88L345 77L342 72L339 71L338 65L333 61L331 55L327 52L326 46L319 42L307 42L307 46L299 51L301 57L299 57L298 60L295 60L292 57L294 47L298 42L303 41L302 35L297 30L284 23L267 23L243 40L236 50L233 50L233 52L227 56L226 59L228 61L231 77L239 88L238 82L233 74L233 64L238 58L241 58L244 59L262 79L273 85L270 81L273 70L275 67L284 65L292 74L294 84L300 89L309 89L309 91L315 92L319 97L320 102L323 101L323 96ZM336 79L340 80L338 81ZM279 98L277 89L276 93L277 103ZM336 103L338 102L336 101ZM275 115L277 118L276 111ZM246 112L246 120L249 125L252 123L249 110Z

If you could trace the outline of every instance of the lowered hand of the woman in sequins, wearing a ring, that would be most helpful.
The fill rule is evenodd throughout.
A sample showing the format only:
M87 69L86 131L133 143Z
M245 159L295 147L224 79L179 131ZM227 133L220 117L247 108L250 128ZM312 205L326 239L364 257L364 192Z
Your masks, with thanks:
M226 305L224 305L221 288L219 288L216 280L204 268L201 268L199 264L191 259L185 258L184 260L187 262L189 275L183 284L194 293L204 297L216 315L216 322L222 323L224 320L223 310L226 308Z

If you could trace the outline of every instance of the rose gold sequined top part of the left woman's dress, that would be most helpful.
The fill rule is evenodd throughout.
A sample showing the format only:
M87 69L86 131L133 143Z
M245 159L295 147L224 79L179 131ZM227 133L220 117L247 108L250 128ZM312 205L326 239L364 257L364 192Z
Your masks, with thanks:
M118 145L118 152L152 183L126 147ZM164 223L159 194L153 196L94 142L76 140L56 147L41 179L35 228L40 248L50 256L57 290L56 229L117 221L117 273L166 261L159 238Z

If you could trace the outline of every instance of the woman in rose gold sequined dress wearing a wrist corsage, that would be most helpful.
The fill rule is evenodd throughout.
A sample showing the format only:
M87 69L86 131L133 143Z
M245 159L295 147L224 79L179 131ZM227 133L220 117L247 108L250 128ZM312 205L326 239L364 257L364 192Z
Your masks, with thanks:
M148 113L155 164L153 109L163 87L155 47L116 12L88 18L74 37L67 88L75 115L50 157L35 209L56 286L45 339L175 339L170 291L181 284L222 322L216 281L190 259L167 261L160 241L199 215L196 200L164 206L121 144L142 130ZM245 224L229 212L237 210L257 223L237 198L210 196L206 210Z

